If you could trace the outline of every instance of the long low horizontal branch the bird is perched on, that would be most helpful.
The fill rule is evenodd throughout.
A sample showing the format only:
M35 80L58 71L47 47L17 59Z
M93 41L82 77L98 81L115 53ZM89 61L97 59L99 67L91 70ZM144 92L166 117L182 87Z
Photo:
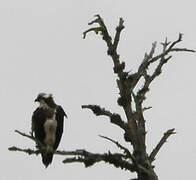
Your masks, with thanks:
M101 136L102 138L111 140L110 138ZM113 142L113 140L111 140ZM116 144L116 142L114 141L114 143ZM117 142L118 143L118 142ZM92 165L94 165L95 163L98 163L100 161L104 161L106 163L112 164L117 168L121 168L121 169L125 169L125 170L130 170L131 172L135 172L137 168L146 171L146 169L144 167L142 167L141 165L139 165L138 163L136 163L135 158L131 155L131 153L128 151L128 149L124 148L122 145L120 145L118 143L118 146L121 147L123 150L126 151L127 155L123 155L120 153L104 153L104 154L98 154L98 153L91 153L88 152L86 150L83 149L78 149L75 151L55 151L54 154L55 155L68 155L68 156L75 156L72 158L66 158L65 160L63 160L63 163L73 163L73 162L79 162L79 163L84 163L85 167L90 167ZM28 155L38 155L41 153L40 150L32 150L32 149L21 149L18 147L10 147L8 148L9 151L18 151L18 152L24 152L27 153ZM130 154L129 154L130 153ZM133 162L133 164L131 164L130 162L124 160L130 158Z

